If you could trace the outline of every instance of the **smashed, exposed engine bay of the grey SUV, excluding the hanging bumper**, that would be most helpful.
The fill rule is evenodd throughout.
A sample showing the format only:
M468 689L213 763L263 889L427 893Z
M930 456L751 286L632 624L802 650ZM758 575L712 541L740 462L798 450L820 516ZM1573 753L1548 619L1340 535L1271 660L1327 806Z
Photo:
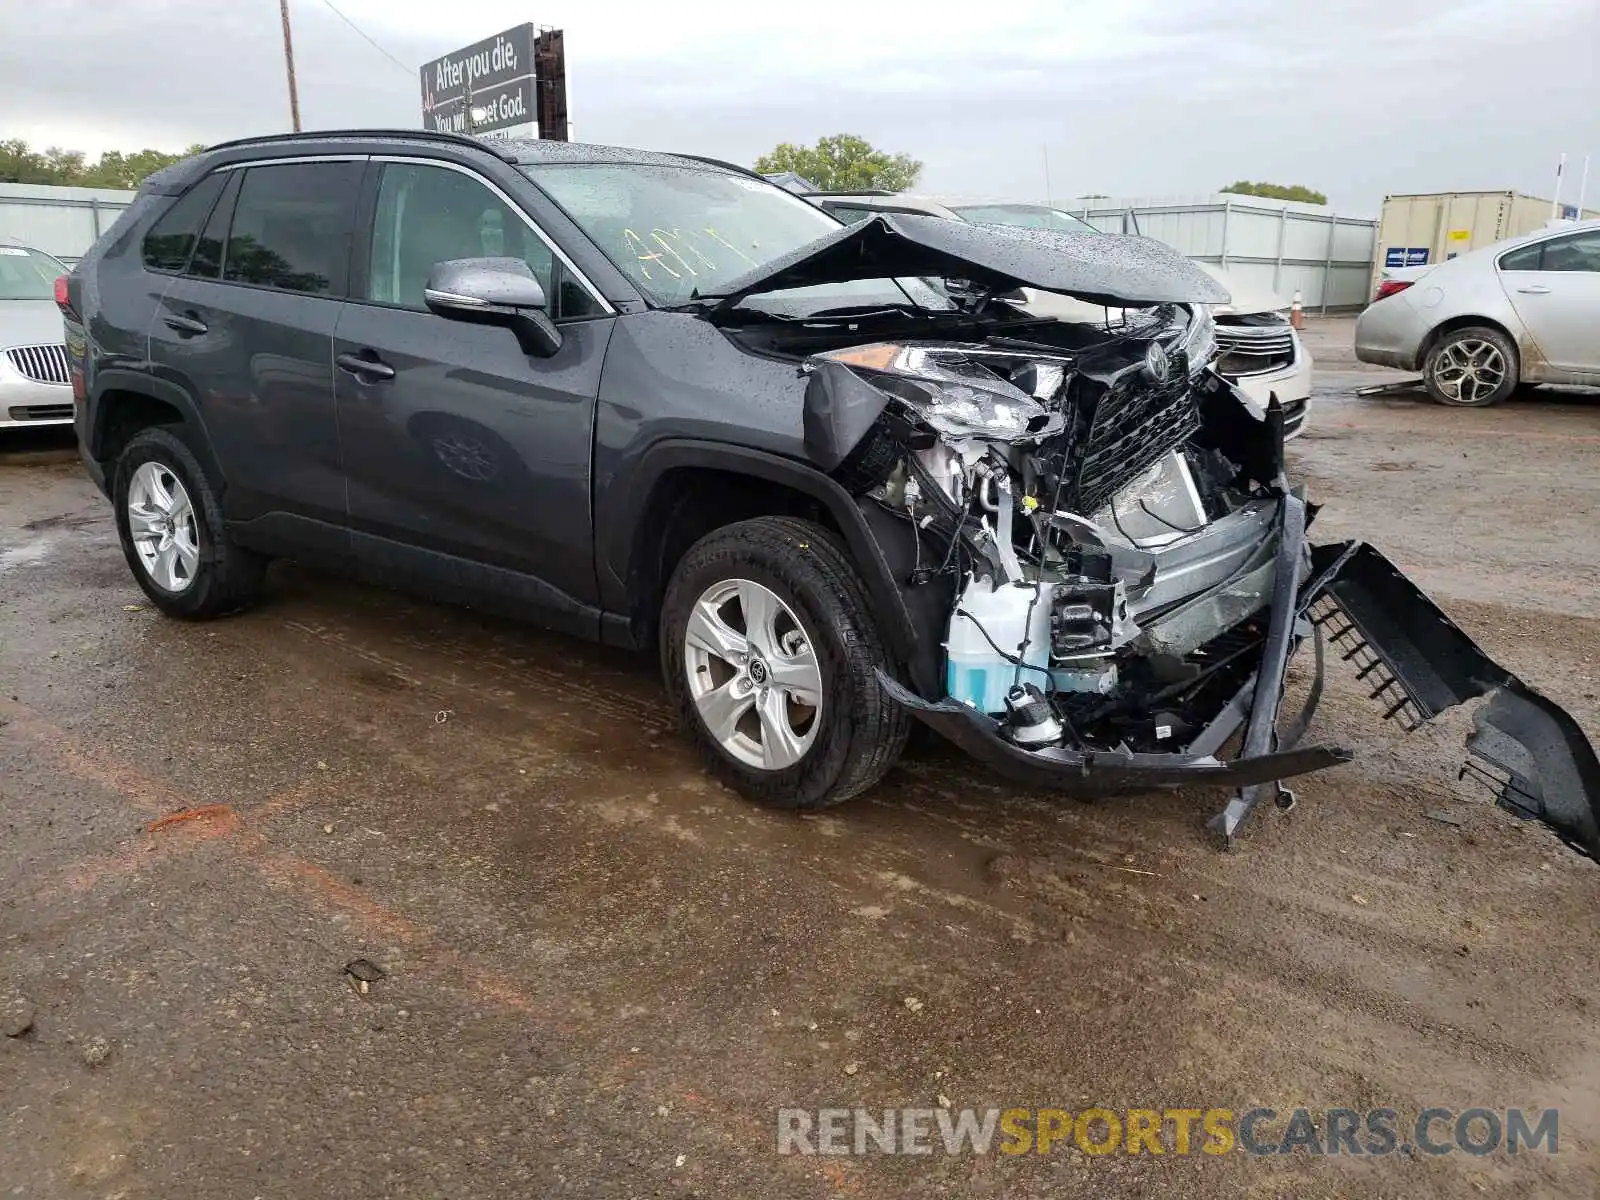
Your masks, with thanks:
M1024 749L1181 750L1264 635L1270 430L1208 350L1190 363L1198 318L1144 317L805 360L808 451L909 534L904 589L942 600L944 699Z

